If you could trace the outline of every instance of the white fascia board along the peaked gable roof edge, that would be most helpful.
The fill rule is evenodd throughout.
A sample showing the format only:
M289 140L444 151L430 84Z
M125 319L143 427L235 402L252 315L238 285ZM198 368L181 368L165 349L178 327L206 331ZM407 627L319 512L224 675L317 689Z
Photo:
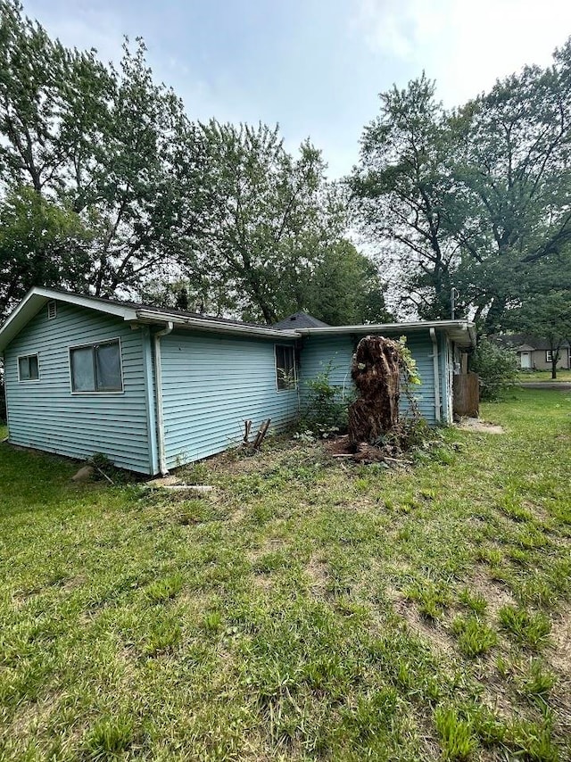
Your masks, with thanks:
M90 299L88 296L65 294L52 288L40 288L36 286L24 296L20 304L12 312L12 315L6 320L4 326L0 328L0 352L4 352L4 349L20 333L21 329L37 315L47 302L52 300L74 304L77 307L85 307L87 310L105 312L108 315L115 315L124 320L137 320L137 312L132 307L121 307L119 304L106 304L96 299Z

